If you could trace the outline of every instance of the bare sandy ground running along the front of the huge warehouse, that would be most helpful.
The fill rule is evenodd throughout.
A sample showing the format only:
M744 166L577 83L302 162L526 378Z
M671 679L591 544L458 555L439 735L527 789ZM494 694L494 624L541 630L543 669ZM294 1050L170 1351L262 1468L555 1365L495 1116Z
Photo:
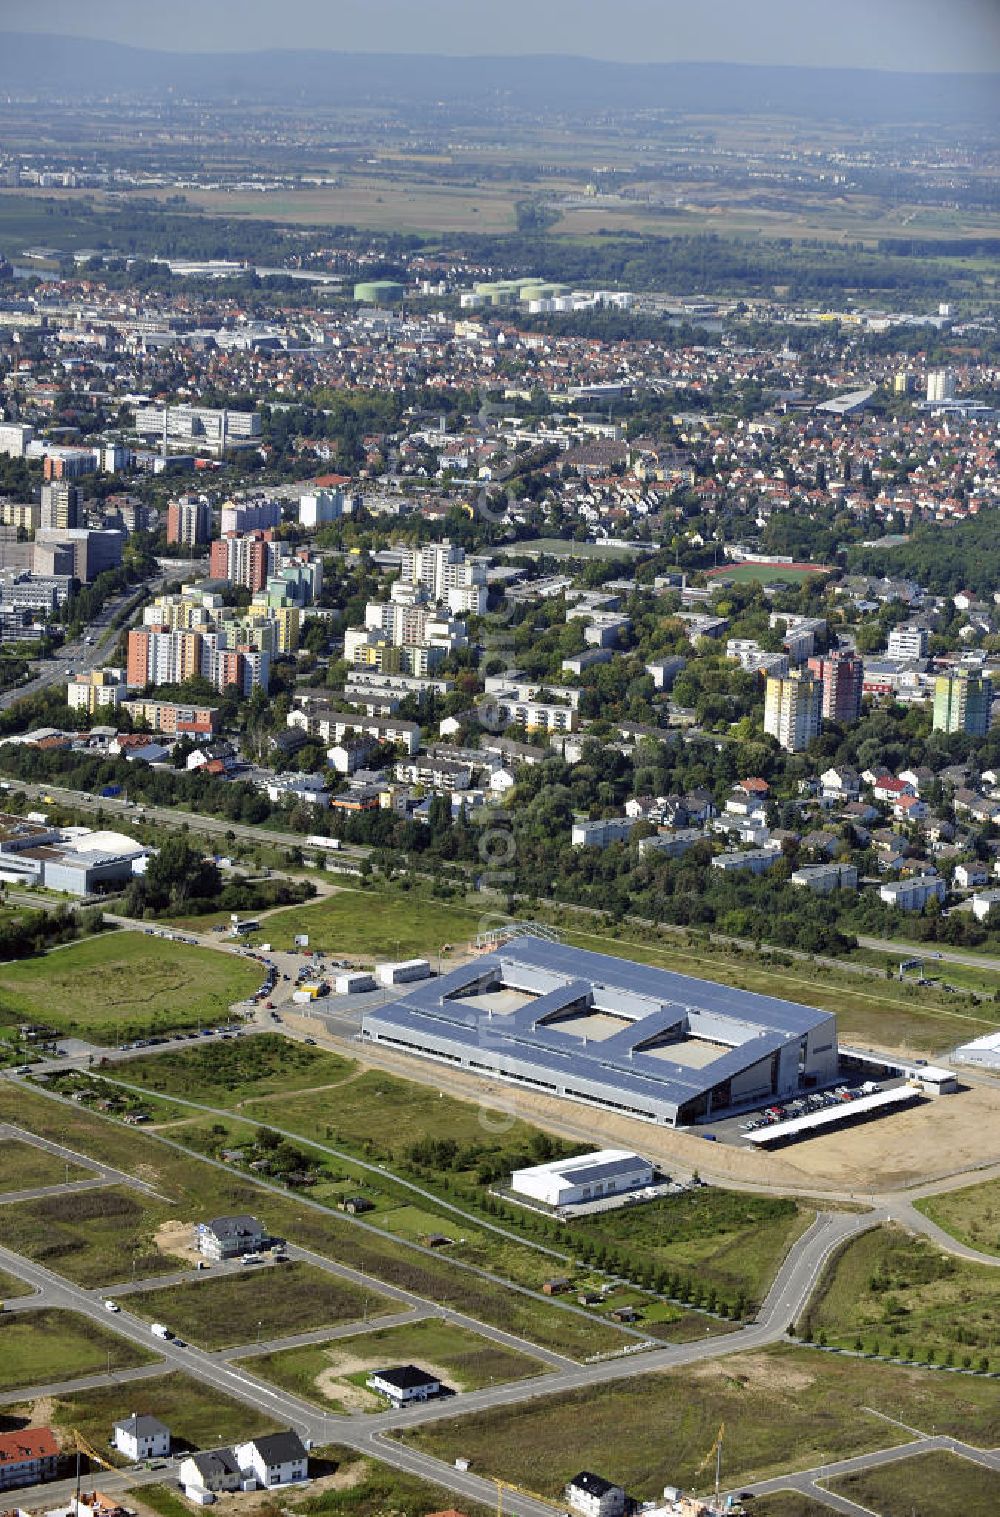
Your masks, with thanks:
M297 1018L287 1021L299 1022ZM310 1036L364 1065L392 1069L481 1104L484 1124L493 1130L498 1118L508 1113L575 1142L633 1148L681 1177L698 1171L703 1179L722 1185L863 1200L1000 1161L1000 1088L989 1083L970 1085L958 1095L926 1100L909 1110L810 1138L777 1153L757 1153L480 1080L466 1071L408 1059L370 1044L347 1044L323 1033L322 1024L302 1019L300 1030L307 1025Z

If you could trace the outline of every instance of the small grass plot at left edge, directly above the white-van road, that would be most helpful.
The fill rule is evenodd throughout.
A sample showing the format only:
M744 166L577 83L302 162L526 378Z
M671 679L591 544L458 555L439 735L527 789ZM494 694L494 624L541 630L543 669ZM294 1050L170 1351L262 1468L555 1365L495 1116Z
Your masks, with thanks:
M105 1373L108 1364L112 1370L131 1370L137 1364L153 1364L156 1358L158 1355L106 1332L77 1312L53 1308L41 1308L36 1312L0 1312L0 1390L3 1391Z

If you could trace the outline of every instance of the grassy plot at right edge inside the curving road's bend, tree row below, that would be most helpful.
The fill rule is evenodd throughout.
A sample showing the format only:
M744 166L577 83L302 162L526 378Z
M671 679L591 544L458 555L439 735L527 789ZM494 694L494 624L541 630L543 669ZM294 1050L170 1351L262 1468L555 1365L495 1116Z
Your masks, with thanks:
M1000 1367L997 1270L897 1227L851 1239L827 1267L800 1333L866 1353ZM983 1359L986 1364L983 1364Z

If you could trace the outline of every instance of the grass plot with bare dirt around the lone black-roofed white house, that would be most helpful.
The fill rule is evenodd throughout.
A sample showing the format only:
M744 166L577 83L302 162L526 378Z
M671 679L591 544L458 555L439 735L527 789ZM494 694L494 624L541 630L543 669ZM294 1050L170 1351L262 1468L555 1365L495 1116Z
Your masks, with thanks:
M419 1364L440 1374L454 1391L478 1391L484 1385L504 1385L546 1373L537 1359L437 1318L376 1329L337 1343L255 1355L246 1361L253 1374L320 1405L343 1405L343 1397L351 1394L347 1376L387 1364ZM372 1409L376 1409L376 1402Z

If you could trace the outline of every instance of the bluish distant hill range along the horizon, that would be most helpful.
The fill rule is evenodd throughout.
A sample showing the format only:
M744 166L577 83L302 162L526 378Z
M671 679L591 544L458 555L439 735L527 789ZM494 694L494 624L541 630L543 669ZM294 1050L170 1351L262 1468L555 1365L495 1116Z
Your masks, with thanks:
M857 123L997 124L1000 74L903 74L741 64L608 64L589 58L402 53L161 53L88 38L0 32L0 90L77 99L379 105L448 102L536 114L665 109Z

